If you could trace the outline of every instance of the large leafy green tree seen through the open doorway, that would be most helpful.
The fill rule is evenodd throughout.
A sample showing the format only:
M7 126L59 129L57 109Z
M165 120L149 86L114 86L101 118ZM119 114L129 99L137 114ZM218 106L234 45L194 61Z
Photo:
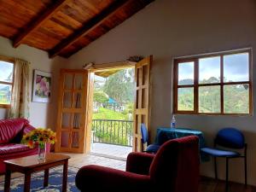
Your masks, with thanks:
M103 90L112 97L115 101L133 102L135 83L134 70L123 69L113 75L110 75L103 86Z

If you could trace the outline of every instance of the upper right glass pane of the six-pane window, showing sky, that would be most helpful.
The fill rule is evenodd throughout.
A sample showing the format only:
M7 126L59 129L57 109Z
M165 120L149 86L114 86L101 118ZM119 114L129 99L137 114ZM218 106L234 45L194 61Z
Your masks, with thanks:
M249 54L224 55L224 82L249 80Z

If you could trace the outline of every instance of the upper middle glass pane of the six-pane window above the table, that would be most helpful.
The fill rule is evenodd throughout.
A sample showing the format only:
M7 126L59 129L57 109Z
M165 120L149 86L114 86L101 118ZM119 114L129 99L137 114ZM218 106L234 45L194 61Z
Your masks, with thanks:
M212 84L220 82L220 56L199 60L199 83Z

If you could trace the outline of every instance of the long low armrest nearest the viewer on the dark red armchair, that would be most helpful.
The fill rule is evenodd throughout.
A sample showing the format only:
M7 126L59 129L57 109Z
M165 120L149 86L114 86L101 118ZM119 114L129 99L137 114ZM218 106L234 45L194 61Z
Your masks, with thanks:
M75 182L82 192L141 192L149 189L150 177L103 166L84 166L79 169Z

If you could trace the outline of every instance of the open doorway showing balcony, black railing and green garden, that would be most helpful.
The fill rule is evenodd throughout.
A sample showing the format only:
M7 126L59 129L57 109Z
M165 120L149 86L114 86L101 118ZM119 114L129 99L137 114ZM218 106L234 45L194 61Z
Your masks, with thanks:
M126 158L132 151L134 67L95 72L90 152Z

